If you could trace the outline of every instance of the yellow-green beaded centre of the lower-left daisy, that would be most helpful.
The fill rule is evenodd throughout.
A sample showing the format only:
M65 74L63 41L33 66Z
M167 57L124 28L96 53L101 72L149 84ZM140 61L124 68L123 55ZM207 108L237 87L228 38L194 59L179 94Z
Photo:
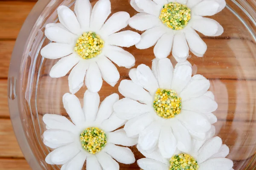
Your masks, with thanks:
M107 143L106 133L98 127L88 127L80 134L84 150L91 154L99 153Z

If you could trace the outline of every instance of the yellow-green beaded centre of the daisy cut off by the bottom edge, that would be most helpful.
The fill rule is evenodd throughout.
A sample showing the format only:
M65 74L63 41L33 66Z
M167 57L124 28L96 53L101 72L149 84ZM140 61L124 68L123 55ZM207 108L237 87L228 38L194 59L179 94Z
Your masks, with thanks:
M180 153L170 159L169 170L198 170L198 168L197 161L186 153Z

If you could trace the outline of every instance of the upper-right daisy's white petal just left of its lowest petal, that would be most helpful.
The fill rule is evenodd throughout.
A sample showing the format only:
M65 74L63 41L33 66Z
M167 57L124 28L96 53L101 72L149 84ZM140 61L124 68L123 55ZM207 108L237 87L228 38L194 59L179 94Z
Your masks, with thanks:
M158 59L163 59L170 55L173 38L173 33L166 33L157 41L157 44L154 46L154 54Z

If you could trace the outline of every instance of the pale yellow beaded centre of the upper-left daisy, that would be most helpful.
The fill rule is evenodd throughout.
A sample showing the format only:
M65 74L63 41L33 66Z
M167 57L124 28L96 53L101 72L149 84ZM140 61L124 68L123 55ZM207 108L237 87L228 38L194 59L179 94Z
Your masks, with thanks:
M95 32L84 32L76 41L75 51L83 59L91 59L102 52L104 41Z

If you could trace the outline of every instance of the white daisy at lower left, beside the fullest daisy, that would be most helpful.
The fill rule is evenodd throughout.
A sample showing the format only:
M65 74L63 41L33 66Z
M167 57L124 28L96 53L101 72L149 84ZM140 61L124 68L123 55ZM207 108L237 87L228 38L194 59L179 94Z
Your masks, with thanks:
M112 94L99 107L99 94L87 90L81 108L74 94L64 94L63 105L73 123L64 116L44 115L43 121L48 129L43 135L44 144L55 149L45 161L63 164L61 170L81 170L85 160L87 170L119 170L116 161L134 163L132 151L116 145L137 144L137 139L126 136L123 129L116 130L125 124L113 113L113 104L118 99L117 94Z

